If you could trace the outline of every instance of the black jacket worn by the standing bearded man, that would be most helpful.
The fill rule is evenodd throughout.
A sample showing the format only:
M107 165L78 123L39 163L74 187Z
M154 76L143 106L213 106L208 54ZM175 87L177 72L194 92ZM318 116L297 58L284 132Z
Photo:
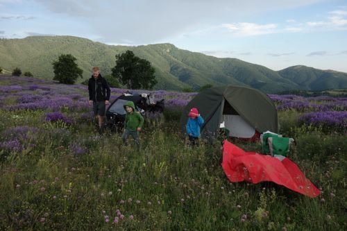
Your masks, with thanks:
M89 99L90 101L109 101L111 90L105 78L99 74L98 78L92 78L88 81Z

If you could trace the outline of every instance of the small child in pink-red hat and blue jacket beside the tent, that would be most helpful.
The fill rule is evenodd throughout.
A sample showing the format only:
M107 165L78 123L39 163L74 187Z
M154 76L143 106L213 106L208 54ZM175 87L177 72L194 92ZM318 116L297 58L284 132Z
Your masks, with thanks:
M187 134L189 137L189 142L192 145L196 144L196 140L200 137L200 128L204 123L203 117L198 114L197 108L192 108L188 114L187 121Z

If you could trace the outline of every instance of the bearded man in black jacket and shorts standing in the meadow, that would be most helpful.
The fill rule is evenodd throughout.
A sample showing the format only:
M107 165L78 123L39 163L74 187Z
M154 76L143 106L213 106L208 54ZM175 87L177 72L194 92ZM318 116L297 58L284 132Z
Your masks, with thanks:
M93 75L88 81L89 104L93 103L95 117L99 120L99 132L103 132L106 105L110 103L111 90L100 74L99 67L93 67Z

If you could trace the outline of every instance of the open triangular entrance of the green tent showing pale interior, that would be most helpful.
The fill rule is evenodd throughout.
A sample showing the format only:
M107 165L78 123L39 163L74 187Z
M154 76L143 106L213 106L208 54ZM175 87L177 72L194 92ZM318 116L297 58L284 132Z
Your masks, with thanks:
M255 135L255 128L247 123L228 101L224 101L223 108L224 126L230 131L230 137L252 138Z

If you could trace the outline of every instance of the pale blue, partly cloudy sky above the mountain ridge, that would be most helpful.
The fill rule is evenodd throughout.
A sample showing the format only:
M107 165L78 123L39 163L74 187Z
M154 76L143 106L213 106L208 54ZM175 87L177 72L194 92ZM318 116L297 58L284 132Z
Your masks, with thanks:
M0 37L37 35L347 73L347 0L0 0Z

